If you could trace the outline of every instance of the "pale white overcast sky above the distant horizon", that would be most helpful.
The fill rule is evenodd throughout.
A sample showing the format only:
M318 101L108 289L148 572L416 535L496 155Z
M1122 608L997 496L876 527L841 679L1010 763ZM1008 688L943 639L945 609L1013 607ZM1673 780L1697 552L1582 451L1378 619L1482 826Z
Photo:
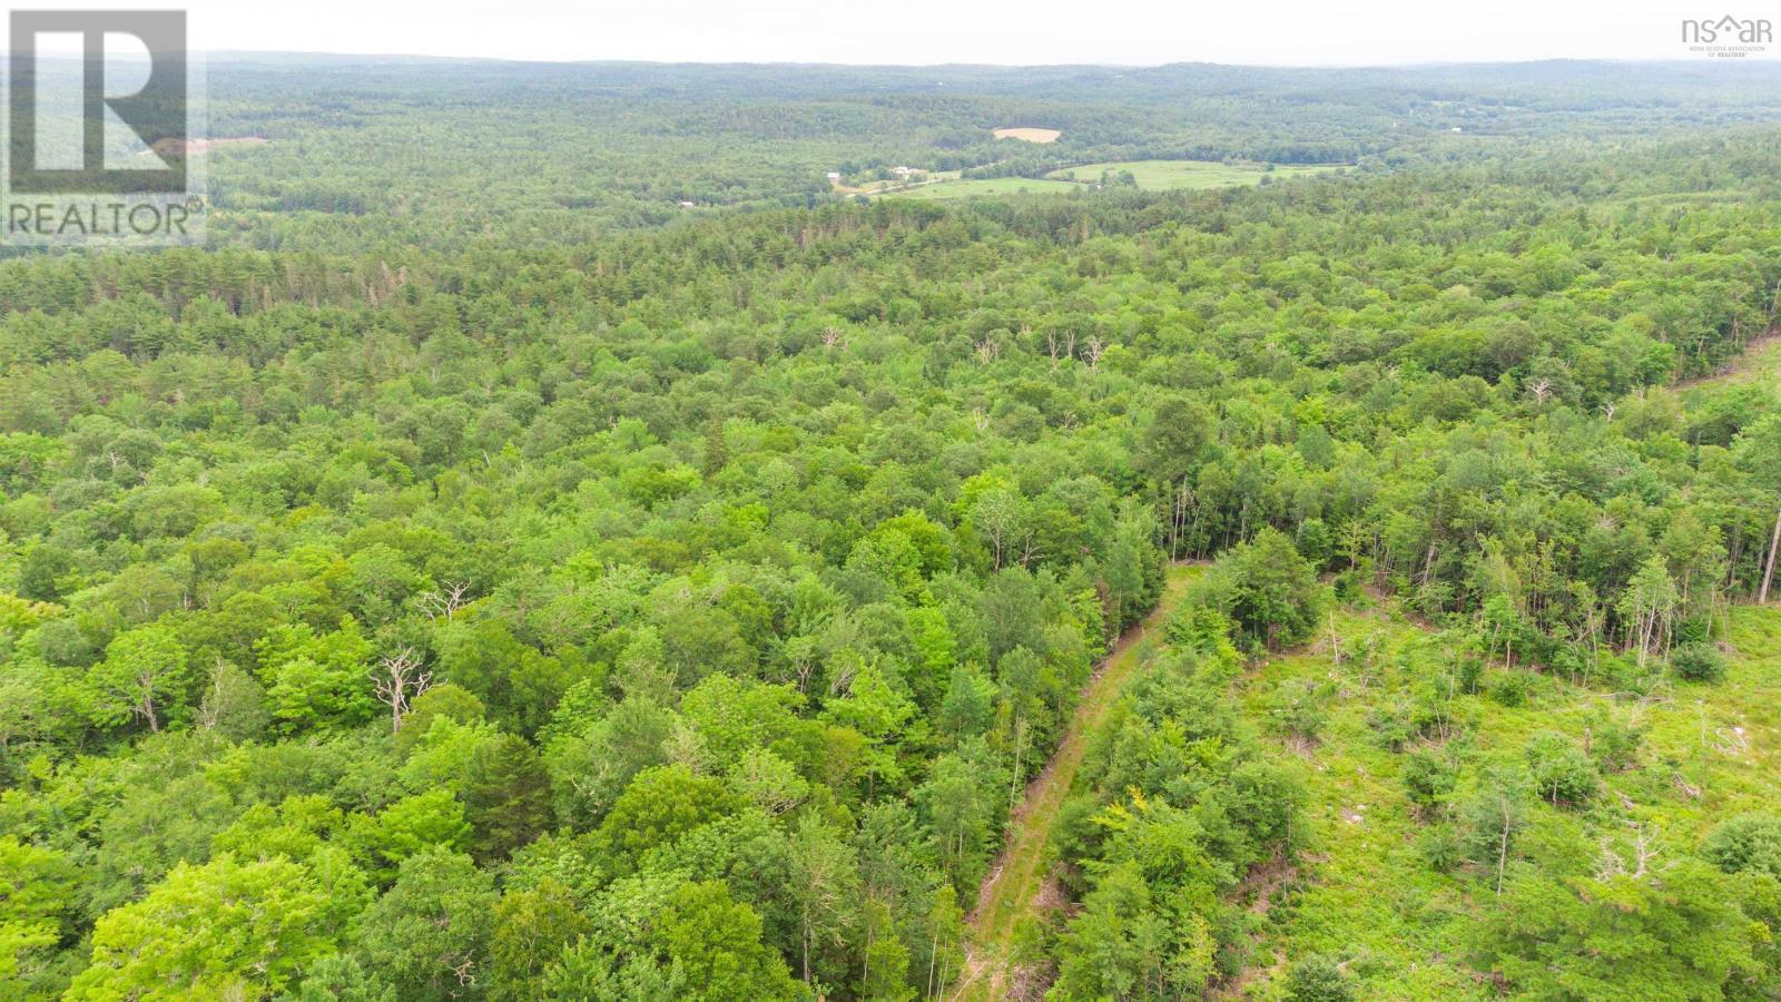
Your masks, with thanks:
M1688 52L1685 18L1781 21L1774 0L189 0L183 7L201 50L851 64L1697 59L1712 68L1735 61ZM1781 46L1767 48L1756 57L1781 57Z

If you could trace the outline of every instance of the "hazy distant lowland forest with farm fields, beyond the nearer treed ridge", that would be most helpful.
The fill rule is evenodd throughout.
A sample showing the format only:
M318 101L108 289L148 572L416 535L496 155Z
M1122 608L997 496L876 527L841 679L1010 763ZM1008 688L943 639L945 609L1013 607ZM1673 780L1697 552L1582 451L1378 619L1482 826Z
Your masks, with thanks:
M830 171L1038 177L1099 160L1387 169L1781 116L1772 64L1419 70L659 66L217 57L208 235L461 253L809 209ZM996 139L1049 127L1056 143ZM680 205L693 203L691 207Z

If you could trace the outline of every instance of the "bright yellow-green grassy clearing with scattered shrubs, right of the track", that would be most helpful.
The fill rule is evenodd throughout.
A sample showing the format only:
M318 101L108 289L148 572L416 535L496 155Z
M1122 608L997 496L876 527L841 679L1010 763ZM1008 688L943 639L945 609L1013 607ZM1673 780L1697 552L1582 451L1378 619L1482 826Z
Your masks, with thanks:
M1322 742L1300 749L1313 843L1304 881L1263 925L1241 995L1277 998L1286 963L1329 954L1346 961L1361 998L1494 997L1468 965L1476 922L1494 902L1492 881L1425 863L1418 847L1425 829L1402 781L1403 754L1382 747L1368 726L1375 706L1427 678L1427 665L1439 661L1437 642L1384 606L1339 612L1336 633L1341 663L1325 638L1263 665L1236 692L1257 727L1266 727L1273 694L1293 679L1330 683L1334 692ZM1530 854L1587 849L1624 834L1635 820L1655 829L1669 852L1692 852L1720 818L1774 809L1781 797L1781 606L1733 608L1726 642L1736 654L1720 683L1674 683L1644 704L1619 704L1646 729L1637 765L1605 776L1592 811L1535 808L1523 842ZM1485 692L1503 672L1487 674ZM1582 742L1592 711L1614 702L1610 694L1549 676L1532 681L1525 706L1457 697L1457 717L1468 722L1455 745L1466 772L1521 761L1528 738L1541 731Z

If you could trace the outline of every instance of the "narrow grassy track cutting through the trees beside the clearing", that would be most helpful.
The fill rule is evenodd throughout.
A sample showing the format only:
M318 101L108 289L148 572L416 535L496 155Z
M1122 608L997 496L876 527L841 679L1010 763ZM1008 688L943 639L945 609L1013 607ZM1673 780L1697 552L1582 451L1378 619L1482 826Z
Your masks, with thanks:
M1175 610L1197 567L1177 563L1168 567L1163 595L1156 608L1113 642L1113 649L1097 665L1083 690L1058 743L1056 754L1026 788L1026 797L1010 817L1008 838L1001 854L990 865L988 877L978 891L978 906L969 916L971 947L965 972L958 981L955 998L1003 998L1008 995L1012 972L1013 932L1021 920L1038 911L1037 899L1045 881L1045 843L1058 820L1058 809L1083 765L1083 752L1092 735L1118 701L1142 661L1143 640L1161 635L1168 615Z

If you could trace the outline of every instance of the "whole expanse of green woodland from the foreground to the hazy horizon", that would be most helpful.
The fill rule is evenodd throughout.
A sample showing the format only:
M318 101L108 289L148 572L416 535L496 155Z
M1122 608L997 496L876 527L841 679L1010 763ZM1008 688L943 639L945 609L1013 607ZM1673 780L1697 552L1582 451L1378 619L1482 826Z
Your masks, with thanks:
M1781 993L1761 87L337 70L216 71L214 246L0 262L0 997ZM1373 162L823 182L1031 109ZM1418 949L1330 897L1352 756Z

